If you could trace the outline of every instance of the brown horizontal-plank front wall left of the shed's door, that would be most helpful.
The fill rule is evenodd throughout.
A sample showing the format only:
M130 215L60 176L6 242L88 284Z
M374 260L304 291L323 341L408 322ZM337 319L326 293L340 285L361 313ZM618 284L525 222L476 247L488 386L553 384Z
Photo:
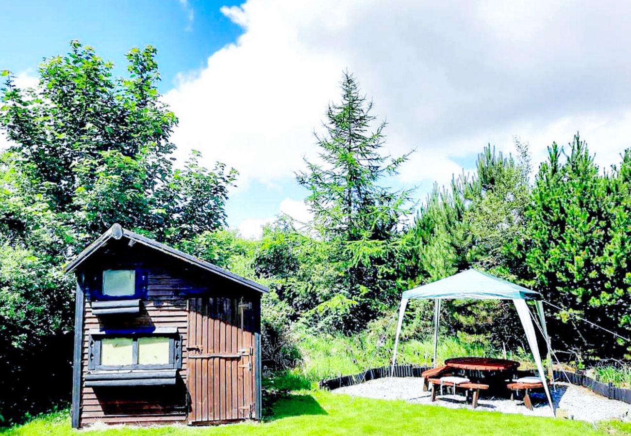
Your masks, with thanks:
M208 290L187 278L174 277L161 268L150 268L148 296L143 301L144 310L139 316L119 317L115 326L108 328L133 328L137 326L177 327L182 335L182 369L176 386L151 386L95 388L86 387L85 374L88 362L88 331L102 327L103 319L92 313L90 302L85 306L83 335L83 359L81 376L81 420L88 425L97 420L106 423L186 423L187 418L187 307L180 290ZM124 320L124 321L123 321ZM158 389L160 388L160 389Z

